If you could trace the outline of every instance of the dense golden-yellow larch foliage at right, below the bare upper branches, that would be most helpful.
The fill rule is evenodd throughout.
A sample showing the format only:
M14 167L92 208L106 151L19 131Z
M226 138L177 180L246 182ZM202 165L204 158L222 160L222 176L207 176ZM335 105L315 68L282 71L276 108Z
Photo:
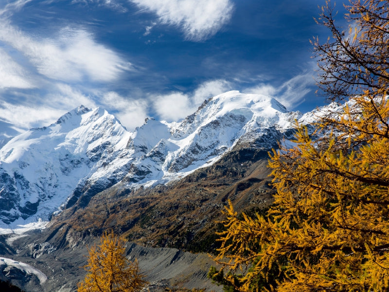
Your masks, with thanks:
M231 203L226 208L216 261L233 272L226 279L235 290L389 290L389 125L383 121L389 121L388 98L355 97L337 119L321 119L314 135L326 136L312 140L299 127L296 146L273 151L277 194L266 216L238 217ZM256 286L261 279L267 285Z

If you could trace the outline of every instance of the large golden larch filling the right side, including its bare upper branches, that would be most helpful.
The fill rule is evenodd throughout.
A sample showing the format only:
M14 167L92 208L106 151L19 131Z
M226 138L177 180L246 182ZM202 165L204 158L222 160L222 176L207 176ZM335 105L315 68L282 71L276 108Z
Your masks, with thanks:
M226 208L212 278L242 292L389 291L388 7L350 1L347 32L323 8L333 38L314 42L319 87L349 101L273 151L277 194L265 216Z

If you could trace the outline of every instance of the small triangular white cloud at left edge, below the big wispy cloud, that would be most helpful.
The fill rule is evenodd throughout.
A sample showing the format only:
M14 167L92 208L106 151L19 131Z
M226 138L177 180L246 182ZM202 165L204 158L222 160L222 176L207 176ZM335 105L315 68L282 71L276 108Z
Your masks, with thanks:
M0 88L34 88L25 70L0 48Z

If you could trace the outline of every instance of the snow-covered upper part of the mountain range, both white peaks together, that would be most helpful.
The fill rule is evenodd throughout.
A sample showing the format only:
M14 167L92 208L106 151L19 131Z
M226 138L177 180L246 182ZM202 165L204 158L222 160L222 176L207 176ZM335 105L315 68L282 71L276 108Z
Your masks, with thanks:
M300 117L273 98L229 91L179 123L146 119L128 132L106 110L81 106L1 147L0 227L47 220L80 198L86 205L122 180L136 188L184 177L238 143L292 128Z

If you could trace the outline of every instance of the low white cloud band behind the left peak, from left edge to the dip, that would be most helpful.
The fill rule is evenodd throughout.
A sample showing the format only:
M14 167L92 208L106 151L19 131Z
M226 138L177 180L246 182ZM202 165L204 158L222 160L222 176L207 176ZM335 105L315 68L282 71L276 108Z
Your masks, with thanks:
M131 130L141 126L148 116L146 100L124 98L114 91L95 93L102 97L98 100L96 96L88 96L67 84L57 83L53 85L51 93L43 97L29 95L27 100L18 104L0 101L0 117L4 122L27 130L51 125L60 116L80 105L89 109L102 106Z

